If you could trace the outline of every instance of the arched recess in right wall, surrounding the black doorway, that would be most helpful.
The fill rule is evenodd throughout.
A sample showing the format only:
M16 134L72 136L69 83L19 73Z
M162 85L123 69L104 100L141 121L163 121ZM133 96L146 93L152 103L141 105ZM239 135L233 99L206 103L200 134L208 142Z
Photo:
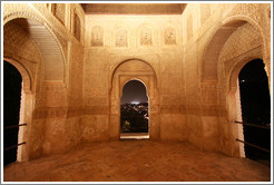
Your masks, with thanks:
M202 105L216 106L221 110L214 115L216 123L219 124L221 142L217 145L222 146L224 153L232 156L244 157L244 149L236 142L236 138L243 139L244 136L242 126L234 124L241 116L236 107L239 101L237 96L239 91L236 88L232 90L231 84L226 86L226 82L233 78L233 86L237 87L238 74L234 72L254 56L261 57L263 45L262 32L257 23L248 17L234 16L218 22L213 28L203 49L200 58ZM234 68L235 66L237 69ZM231 72L232 68L234 72ZM207 86L212 88L208 89ZM208 97L215 98L208 101Z

